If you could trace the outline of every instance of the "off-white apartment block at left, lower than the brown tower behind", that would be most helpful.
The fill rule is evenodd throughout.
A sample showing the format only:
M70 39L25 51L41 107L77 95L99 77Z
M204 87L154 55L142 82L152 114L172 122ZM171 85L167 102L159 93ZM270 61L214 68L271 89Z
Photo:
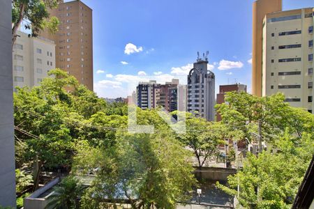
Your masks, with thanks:
M38 86L56 68L54 41L17 31L13 46L13 86Z

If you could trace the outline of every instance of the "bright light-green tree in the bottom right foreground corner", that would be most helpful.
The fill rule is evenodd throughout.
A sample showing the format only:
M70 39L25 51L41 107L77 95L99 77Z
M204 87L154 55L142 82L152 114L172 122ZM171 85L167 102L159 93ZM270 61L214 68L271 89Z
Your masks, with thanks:
M244 167L228 178L230 187L218 185L225 192L237 195L242 206L249 208L291 208L294 196L314 153L313 134L304 134L295 141L285 134L278 141L281 153L248 153ZM239 184L239 194L237 188Z

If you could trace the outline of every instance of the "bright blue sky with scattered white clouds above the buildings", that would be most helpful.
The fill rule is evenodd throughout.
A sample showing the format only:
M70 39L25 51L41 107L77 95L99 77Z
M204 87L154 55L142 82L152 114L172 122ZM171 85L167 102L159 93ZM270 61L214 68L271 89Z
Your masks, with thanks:
M93 9L94 90L98 95L126 97L127 83L137 81L138 74L162 72L157 79L164 82L178 74L184 79L197 51L207 50L209 67L216 75L216 93L219 85L228 82L247 84L251 91L253 0L83 2ZM283 1L284 10L313 6L313 0Z

